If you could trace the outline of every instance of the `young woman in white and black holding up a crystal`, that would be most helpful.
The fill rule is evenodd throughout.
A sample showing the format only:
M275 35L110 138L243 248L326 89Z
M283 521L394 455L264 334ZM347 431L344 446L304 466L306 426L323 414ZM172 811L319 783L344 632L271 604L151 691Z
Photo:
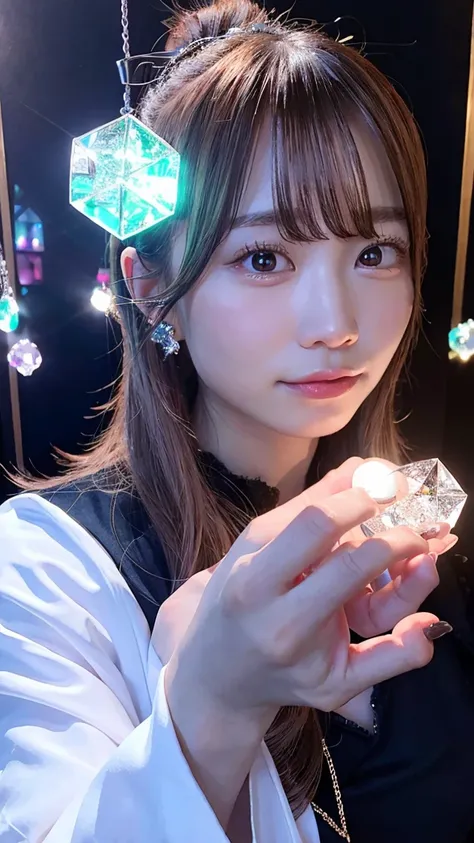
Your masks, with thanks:
M112 244L113 423L0 510L0 841L467 843L469 569L442 525L364 540L351 488L402 459L414 121L248 0L180 12L181 46L141 109L177 213Z

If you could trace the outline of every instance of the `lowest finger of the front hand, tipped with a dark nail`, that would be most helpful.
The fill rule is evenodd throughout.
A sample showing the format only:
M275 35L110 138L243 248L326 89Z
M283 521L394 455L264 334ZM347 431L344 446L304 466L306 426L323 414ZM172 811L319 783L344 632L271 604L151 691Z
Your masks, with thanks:
M418 612L400 621L389 635L351 644L347 680L356 689L354 696L401 673L425 667L434 653L426 631L437 622L435 615Z

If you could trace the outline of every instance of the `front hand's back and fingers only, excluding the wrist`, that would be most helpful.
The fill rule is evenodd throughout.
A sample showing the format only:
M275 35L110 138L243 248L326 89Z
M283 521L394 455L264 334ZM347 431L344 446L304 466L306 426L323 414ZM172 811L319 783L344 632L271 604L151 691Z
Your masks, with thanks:
M255 519L210 577L171 655L170 681L197 683L209 699L240 712L282 705L330 711L426 664L433 648L423 628L437 620L426 613L404 618L389 635L350 643L344 606L385 569L429 553L427 541L405 528L333 550L376 512L361 490L321 499L312 487Z

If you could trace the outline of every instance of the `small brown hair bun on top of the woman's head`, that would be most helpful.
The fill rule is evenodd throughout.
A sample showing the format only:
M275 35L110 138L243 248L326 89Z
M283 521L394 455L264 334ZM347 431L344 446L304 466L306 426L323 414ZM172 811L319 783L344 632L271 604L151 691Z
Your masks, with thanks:
M234 27L266 23L268 19L267 12L252 0L214 0L192 11L179 10L165 22L169 29L166 49L177 50L201 38L217 38Z

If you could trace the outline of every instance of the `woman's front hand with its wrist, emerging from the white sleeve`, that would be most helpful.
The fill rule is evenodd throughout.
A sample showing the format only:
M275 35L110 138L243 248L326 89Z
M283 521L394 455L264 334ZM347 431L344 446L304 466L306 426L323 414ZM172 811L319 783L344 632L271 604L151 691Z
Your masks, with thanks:
M335 710L432 657L423 630L438 619L427 613L350 642L344 606L382 571L429 552L400 528L341 544L377 512L365 492L347 488L359 463L255 519L214 571L192 577L158 613L153 640L167 662L176 735L223 828L281 706Z

